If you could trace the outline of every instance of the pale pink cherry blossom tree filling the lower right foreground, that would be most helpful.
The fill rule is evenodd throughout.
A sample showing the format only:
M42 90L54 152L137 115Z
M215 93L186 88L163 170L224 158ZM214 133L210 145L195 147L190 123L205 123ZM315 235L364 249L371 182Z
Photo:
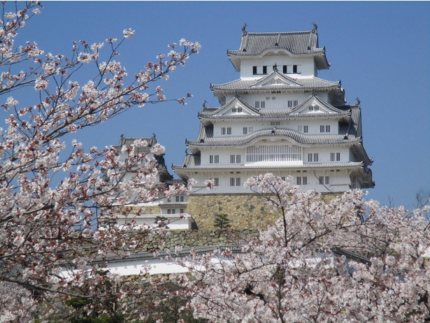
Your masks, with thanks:
M281 211L234 254L187 261L182 276L196 317L210 322L423 322L430 320L429 206L409 213L365 201L361 190L327 200L272 174L245 186ZM427 203L428 204L428 203ZM190 265L191 264L191 265Z

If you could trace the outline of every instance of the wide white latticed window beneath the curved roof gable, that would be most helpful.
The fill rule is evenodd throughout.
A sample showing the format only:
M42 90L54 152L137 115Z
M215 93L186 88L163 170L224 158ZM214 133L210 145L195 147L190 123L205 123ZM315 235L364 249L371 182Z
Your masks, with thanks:
M298 145L252 145L246 148L246 161L301 161Z

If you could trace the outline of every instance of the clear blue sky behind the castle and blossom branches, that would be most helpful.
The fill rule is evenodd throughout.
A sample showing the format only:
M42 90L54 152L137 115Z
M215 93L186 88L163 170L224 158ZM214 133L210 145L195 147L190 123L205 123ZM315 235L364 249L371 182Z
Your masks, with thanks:
M209 85L236 80L227 49L247 30L303 31L318 24L320 47L331 63L320 78L342 80L347 103L361 101L364 148L375 162L368 197L412 208L430 191L430 2L403 1L49 1L20 37L45 52L69 55L71 41L101 42L136 30L120 62L131 75L167 44L199 41L199 55L164 81L168 98L190 92L183 107L162 103L136 108L78 136L85 146L117 144L124 136L157 135L168 166L182 164L185 138L195 140L201 103L219 106ZM6 98L3 98L6 99ZM19 99L19 98L17 98ZM171 173L173 173L171 171ZM177 177L177 176L175 176Z

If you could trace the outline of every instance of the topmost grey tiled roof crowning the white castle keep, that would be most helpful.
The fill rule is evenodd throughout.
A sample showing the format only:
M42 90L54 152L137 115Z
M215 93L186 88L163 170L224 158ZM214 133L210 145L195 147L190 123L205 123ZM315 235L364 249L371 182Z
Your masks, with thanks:
M229 50L227 54L234 56L261 55L268 49L285 49L294 55L309 55L324 53L324 48L318 48L316 31L295 31L282 33L250 33L242 34L241 47Z

